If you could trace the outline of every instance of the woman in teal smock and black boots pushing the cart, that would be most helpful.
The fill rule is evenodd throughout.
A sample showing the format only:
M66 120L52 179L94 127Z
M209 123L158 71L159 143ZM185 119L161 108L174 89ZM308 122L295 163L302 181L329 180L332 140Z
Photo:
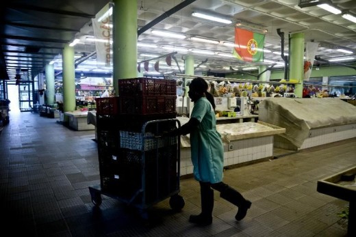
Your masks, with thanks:
M188 123L168 131L162 136L178 136L190 133L190 148L194 178L201 187L201 213L191 215L189 221L197 225L210 225L214 208L214 190L220 197L238 206L237 221L244 219L251 201L231 186L223 182L224 148L220 134L216 130L215 103L212 94L207 92L208 84L201 78L194 78L188 96L194 102Z

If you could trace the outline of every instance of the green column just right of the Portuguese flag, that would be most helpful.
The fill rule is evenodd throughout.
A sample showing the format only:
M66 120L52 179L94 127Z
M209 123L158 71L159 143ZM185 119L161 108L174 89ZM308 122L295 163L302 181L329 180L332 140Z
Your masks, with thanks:
M304 33L292 33L290 35L289 57L289 79L294 79L300 83L295 85L294 94L296 97L302 98L304 77Z

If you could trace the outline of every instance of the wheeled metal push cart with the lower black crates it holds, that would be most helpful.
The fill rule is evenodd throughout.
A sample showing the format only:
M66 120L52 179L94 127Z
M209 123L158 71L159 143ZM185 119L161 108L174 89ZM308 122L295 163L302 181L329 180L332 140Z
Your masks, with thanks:
M148 219L147 209L170 197L170 208L181 210L179 136L155 137L179 126L179 120L165 119L144 123L141 133L120 130L116 152L99 155L101 184L89 187L92 203L100 206L106 195L138 208Z

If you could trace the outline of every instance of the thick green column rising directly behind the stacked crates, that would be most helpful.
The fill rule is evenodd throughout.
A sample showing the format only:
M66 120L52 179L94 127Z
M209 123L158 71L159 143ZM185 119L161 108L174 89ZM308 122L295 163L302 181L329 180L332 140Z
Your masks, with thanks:
M113 1L113 82L116 96L118 80L135 78L137 70L137 1Z

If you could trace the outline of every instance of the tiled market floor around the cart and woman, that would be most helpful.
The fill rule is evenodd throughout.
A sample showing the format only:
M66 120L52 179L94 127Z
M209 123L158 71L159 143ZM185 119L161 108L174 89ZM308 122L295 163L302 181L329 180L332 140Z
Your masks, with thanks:
M215 192L213 224L188 222L199 212L199 184L181 179L186 201L173 212L168 199L149 210L103 196L94 208L88 186L99 184L94 131L73 131L34 113L10 112L0 134L1 236L346 236L338 217L348 202L316 191L316 181L356 165L356 139L283 155L225 171L225 182L252 201L246 218ZM354 223L355 224L355 223ZM8 233L8 234L5 234ZM20 235L21 234L21 235Z

